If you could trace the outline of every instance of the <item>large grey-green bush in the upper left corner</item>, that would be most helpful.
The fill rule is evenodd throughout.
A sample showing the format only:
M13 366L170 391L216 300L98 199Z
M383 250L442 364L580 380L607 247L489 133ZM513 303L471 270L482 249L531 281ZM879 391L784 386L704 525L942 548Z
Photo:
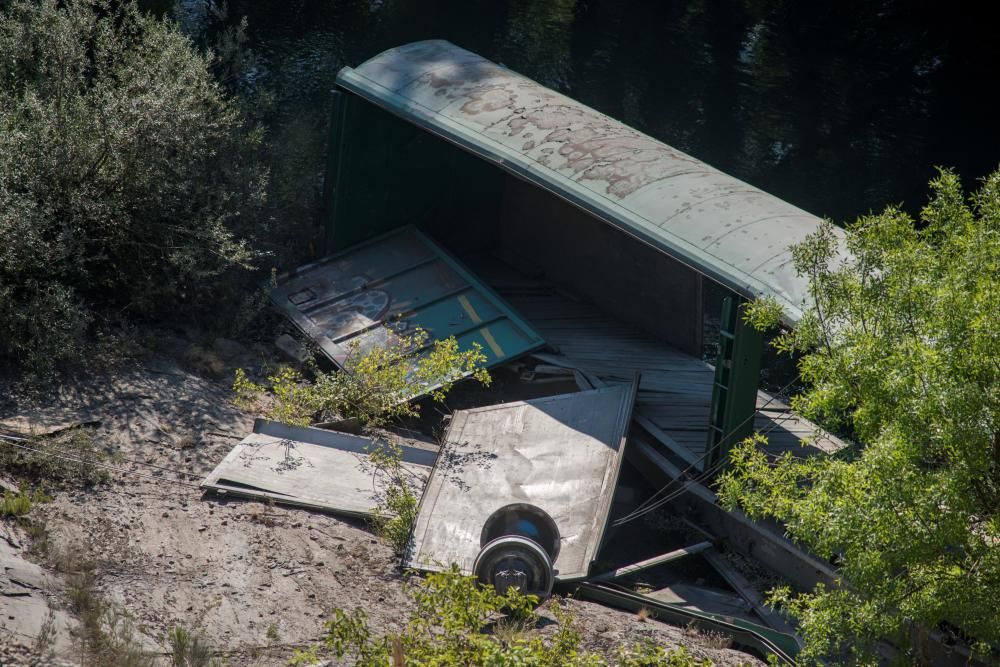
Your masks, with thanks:
M76 358L95 318L169 312L250 265L259 137L174 25L20 1L0 53L0 356Z

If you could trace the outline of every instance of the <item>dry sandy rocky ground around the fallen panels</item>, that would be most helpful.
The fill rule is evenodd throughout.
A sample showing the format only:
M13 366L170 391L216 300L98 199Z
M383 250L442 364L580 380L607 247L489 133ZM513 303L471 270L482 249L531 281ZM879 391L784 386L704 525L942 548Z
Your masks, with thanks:
M117 456L108 482L56 489L33 508L35 528L0 520L0 665L79 664L82 587L163 664L176 627L202 636L226 664L267 666L319 640L334 607L363 607L382 630L405 617L397 560L362 523L198 488L252 428L252 416L229 402L225 378L272 359L263 346L192 338L163 336L156 353L127 368L41 396L9 392L0 404L8 433L89 423L81 428ZM648 639L719 665L761 664L717 637L568 604L589 649Z

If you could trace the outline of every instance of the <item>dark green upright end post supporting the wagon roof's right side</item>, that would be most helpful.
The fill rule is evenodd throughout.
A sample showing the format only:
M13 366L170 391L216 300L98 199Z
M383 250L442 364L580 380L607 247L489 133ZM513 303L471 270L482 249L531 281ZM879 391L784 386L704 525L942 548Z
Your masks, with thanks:
M764 337L743 321L745 304L745 299L735 296L728 296L722 302L706 469L726 461L733 446L753 434Z

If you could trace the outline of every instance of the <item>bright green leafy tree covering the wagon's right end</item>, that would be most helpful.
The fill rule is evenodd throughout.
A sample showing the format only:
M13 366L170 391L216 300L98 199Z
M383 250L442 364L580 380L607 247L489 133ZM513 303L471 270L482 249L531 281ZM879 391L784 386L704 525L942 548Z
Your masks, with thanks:
M849 261L828 227L795 249L815 305L776 341L802 353L792 405L859 450L775 464L749 442L722 480L840 565L841 588L779 592L807 659L864 662L888 636L919 662L932 629L1000 640L1000 171L970 197L950 171L930 185L919 221L889 207L851 225Z

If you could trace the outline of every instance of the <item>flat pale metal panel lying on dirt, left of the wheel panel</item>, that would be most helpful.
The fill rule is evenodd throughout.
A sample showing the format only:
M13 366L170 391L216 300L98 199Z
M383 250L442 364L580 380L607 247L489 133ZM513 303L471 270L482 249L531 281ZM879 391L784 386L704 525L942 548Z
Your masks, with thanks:
M370 438L258 419L202 486L297 507L368 516L383 497L387 479L376 474ZM402 467L419 496L437 452L402 446Z

